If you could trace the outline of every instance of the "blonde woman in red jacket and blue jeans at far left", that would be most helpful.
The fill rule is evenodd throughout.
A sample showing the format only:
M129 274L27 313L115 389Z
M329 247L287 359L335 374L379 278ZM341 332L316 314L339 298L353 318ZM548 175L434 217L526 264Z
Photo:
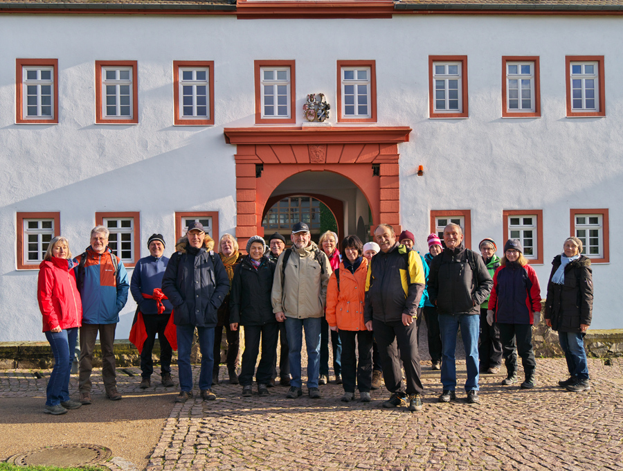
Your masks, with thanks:
M69 398L73 350L82 324L82 303L75 285L74 266L67 239L53 238L39 265L37 300L43 316L43 332L50 342L55 362L48 380L44 411L55 416L82 405Z

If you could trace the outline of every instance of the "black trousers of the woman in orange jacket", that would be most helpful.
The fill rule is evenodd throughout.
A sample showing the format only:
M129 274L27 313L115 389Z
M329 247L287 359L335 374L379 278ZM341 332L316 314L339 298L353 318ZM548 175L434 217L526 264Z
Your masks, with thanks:
M356 380L359 392L370 392L372 388L372 332L369 330L340 330L338 333L342 341L344 391L354 393ZM359 362L357 361L357 353L359 353Z

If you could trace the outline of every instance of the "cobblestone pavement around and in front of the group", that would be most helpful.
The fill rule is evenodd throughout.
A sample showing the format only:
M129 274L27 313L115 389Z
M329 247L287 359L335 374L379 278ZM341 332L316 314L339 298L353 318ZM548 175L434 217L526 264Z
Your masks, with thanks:
M129 371L138 374L118 371L118 389L140 395L140 371ZM440 374L423 361L426 391L419 413L383 409L389 396L384 388L372 391L369 403L341 402L343 389L333 381L320 386L323 398L317 400L307 398L305 387L303 397L291 400L283 386L270 389L267 398L242 398L242 386L217 384L217 400L202 402L195 385L195 398L172 405L147 470L620 471L623 359L608 365L590 359L589 371L593 389L576 394L556 385L567 376L564 359L537 359L539 383L529 391L500 386L502 368L498 375L480 376L481 402L468 405L459 360L458 398L440 404ZM195 379L197 373L195 368ZM37 379L33 372L0 372L0 397L40 397L45 374ZM101 378L100 371L93 374ZM101 381L94 392L98 388ZM171 394L158 386L146 392L159 391Z

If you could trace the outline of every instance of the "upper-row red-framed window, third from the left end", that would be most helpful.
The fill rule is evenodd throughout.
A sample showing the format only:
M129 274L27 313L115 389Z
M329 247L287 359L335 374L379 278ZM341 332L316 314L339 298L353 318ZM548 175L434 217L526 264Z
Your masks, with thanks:
M214 124L214 61L173 61L174 124Z

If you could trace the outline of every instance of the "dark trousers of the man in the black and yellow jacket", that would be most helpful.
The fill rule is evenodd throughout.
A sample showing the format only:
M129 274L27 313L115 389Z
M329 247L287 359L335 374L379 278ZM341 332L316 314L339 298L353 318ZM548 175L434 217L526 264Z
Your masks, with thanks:
M374 339L379 344L383 380L388 391L390 393L405 392L398 357L398 349L400 349L400 359L406 376L406 393L409 395L422 393L424 386L420 380L422 370L419 366L415 323L404 326L401 322L385 323L373 319L372 328Z

